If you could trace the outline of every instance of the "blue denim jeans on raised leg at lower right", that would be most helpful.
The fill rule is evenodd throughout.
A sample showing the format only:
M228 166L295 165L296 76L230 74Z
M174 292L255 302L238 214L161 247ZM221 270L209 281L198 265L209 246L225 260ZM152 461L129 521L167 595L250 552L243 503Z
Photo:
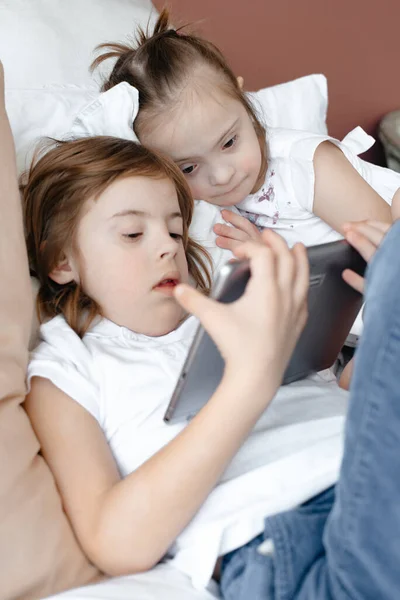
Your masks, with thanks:
M226 600L400 598L400 222L367 271L339 481L226 555L221 591Z

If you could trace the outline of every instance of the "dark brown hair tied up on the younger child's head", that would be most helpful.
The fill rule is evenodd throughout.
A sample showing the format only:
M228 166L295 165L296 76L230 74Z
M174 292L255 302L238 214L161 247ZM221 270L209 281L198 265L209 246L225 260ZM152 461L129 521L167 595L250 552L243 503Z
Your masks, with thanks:
M218 75L218 85L242 104L253 123L262 159L256 182L259 187L267 168L265 129L220 50L211 42L182 29L172 28L169 11L164 8L152 32L137 29L136 43L97 46L96 50L102 53L92 62L91 69L93 71L105 60L117 59L102 90L107 91L123 81L138 90L139 114L135 121L138 133L140 128L152 122L154 116L171 108L177 91L187 83L195 67L209 66Z

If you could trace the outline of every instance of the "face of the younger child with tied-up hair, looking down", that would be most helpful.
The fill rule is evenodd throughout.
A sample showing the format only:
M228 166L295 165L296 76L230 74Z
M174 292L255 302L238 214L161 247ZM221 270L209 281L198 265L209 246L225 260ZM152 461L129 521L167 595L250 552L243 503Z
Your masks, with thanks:
M260 144L248 113L215 88L183 96L168 120L157 119L139 134L140 141L177 163L197 200L238 204L256 191L261 168Z

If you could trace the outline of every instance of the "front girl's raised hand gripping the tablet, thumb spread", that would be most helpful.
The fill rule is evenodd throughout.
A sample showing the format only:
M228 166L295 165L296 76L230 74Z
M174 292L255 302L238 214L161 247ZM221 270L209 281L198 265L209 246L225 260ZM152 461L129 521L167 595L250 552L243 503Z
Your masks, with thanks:
M308 260L304 246L292 250L276 233L265 231L262 243L236 248L238 259L250 261L251 278L236 302L220 304L187 285L176 299L199 318L217 344L226 374L244 383L280 385L307 318Z

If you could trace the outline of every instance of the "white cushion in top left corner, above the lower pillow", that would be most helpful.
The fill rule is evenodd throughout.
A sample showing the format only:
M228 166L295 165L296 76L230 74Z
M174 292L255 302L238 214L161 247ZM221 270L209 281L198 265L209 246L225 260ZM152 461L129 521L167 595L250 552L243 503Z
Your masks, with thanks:
M0 0L6 88L91 86L95 46L123 41L156 16L150 0Z

